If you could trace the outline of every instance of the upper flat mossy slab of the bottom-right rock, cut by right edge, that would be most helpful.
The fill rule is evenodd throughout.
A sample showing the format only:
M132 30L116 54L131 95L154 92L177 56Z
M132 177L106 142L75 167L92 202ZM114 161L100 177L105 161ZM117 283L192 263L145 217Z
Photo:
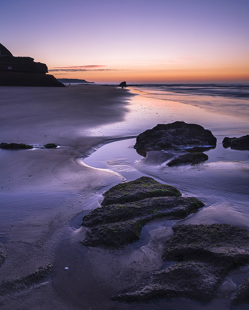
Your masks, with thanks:
M249 260L249 231L227 224L177 225L165 259L198 259L236 266Z

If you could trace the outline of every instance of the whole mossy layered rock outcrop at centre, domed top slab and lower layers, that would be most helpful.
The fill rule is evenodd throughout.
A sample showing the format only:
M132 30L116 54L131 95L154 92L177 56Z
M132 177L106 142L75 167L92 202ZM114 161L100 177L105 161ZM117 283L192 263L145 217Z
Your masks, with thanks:
M176 188L160 184L152 178L145 179L145 190L142 191L141 179L109 189L106 194L109 201L105 201L108 205L96 208L83 217L81 225L90 229L86 231L82 244L117 248L139 240L142 227L153 219L173 219L204 206L195 197L179 197L181 193ZM128 201L134 201L125 202L127 196ZM116 203L110 204L111 198Z

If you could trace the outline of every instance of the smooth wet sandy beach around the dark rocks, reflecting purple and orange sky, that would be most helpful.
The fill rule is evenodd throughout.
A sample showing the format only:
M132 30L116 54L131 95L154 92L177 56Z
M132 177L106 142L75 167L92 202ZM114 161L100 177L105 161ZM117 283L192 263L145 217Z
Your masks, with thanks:
M162 268L165 263L161 241L167 234L170 236L172 229L169 227L166 232L163 220L153 222L147 226L148 232L143 233L136 248L127 245L110 250L82 246L85 228L79 226L82 212L99 206L104 190L125 179L129 181L127 175L122 175L122 152L110 151L107 166L91 167L90 163L84 163L84 158L101 145L134 137L163 118L165 122L169 119L198 124L198 113L201 125L213 128L219 134L220 143L225 135L233 134L226 132L223 122L230 125L236 121L237 132L244 130L241 128L248 120L241 117L242 113L233 116L231 111L227 115L223 112L226 116L223 118L219 106L215 110L201 109L153 96L144 98L128 89L112 86L1 86L0 92L0 142L59 146L56 149L0 149L0 242L1 249L7 253L0 268L0 279L5 281L5 287L0 285L1 309L247 309L247 305L231 306L228 297L247 277L248 266L227 277L218 296L210 303L188 299L149 303L112 301L111 297L117 292L146 285L152 272ZM167 116L163 105L167 107ZM215 127L219 117L219 127ZM130 146L127 142L124 147ZM120 144L118 148L121 147ZM131 179L152 176L179 188L186 196L204 201L206 208L187 218L185 224L220 223L249 229L248 160L215 160L175 169L162 166L165 156L165 153L151 151L144 159L126 161L129 169L125 171L133 173ZM126 154L123 153L123 157L126 158ZM118 162L116 166L114 160ZM112 165L118 168L112 169ZM53 267L47 277L23 285L25 278L49 264Z

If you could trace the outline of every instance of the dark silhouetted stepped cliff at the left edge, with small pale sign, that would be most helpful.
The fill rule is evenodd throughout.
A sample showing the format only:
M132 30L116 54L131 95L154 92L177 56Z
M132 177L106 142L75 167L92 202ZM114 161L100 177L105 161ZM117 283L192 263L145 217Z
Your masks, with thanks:
M0 86L65 87L48 73L46 64L31 57L15 57L0 43Z

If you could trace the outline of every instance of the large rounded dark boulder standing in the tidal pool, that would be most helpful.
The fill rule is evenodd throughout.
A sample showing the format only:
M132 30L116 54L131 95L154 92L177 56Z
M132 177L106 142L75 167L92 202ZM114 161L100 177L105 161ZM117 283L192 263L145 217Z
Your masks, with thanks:
M173 122L158 124L136 138L134 148L179 148L194 145L215 145L217 139L210 130L197 124Z

